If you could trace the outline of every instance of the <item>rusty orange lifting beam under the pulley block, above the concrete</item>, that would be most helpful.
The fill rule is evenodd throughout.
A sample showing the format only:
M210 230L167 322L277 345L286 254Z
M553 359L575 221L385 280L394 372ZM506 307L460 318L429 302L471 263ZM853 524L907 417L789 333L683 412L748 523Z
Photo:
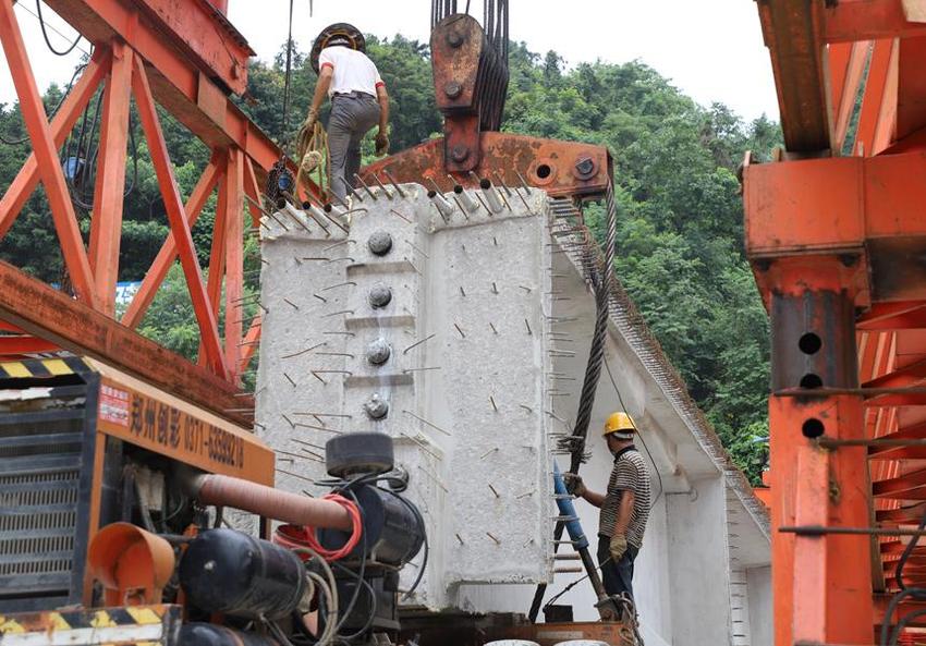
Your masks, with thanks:
M520 173L531 186L543 188L553 197L604 195L611 176L611 157L604 146L497 132L483 133L479 146L482 162L476 174L494 183L500 175L508 186L520 187ZM388 171L399 182L430 179L449 192L453 185L443 170L443 139L431 139L370 163L362 174ZM464 186L475 186L466 173L453 176Z

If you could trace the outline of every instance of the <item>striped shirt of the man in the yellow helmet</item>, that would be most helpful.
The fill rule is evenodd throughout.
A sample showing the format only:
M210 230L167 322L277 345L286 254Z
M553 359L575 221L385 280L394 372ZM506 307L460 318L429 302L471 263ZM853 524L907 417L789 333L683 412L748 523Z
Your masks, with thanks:
M633 513L628 525L628 543L639 549L643 546L643 533L649 517L649 470L634 447L624 449L614 458L614 468L608 479L608 492L601 504L598 534L613 536L618 522L618 508L624 491L635 495Z

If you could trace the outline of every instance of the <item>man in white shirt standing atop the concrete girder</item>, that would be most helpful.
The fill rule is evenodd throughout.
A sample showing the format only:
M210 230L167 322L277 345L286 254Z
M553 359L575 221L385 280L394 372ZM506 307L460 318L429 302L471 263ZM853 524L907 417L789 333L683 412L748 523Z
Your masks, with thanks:
M361 142L375 125L376 154L389 150L389 95L376 65L365 53L366 39L348 23L326 27L312 47L309 60L318 83L300 129L300 150L307 148L318 111L326 96L331 98L328 119L328 150L331 191L340 198L355 187L361 170Z

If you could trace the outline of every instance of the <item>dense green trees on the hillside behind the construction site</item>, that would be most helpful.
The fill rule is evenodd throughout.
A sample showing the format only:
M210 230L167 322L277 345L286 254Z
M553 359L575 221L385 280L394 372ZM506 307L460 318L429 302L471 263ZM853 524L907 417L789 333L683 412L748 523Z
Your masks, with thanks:
M427 48L397 36L391 41L370 38L369 52L391 93L393 149L439 133ZM305 54L296 52L284 129L284 58L281 51L272 64L253 63L249 96L241 101L268 133L283 139L297 129L315 83ZM49 90L49 108L61 92ZM165 121L182 190L188 192L208 150L181 125ZM765 447L756 439L767 436L768 324L743 254L735 168L746 149L768 155L778 144L777 124L764 118L747 124L724 106L698 106L641 62L564 70L555 52L540 57L522 44L511 49L504 129L612 150L621 210L616 269L734 459L757 479ZM0 106L0 136L23 134L16 106ZM167 233L141 133L136 148L122 280L141 278ZM0 186L11 181L27 151L27 144L0 147ZM371 154L371 142L365 151ZM131 163L129 174L135 174ZM195 230L204 264L214 210L210 203ZM587 217L600 234L600 209L593 206ZM88 220L84 210L85 230ZM0 244L0 258L57 282L63 276L54 246L39 192ZM195 322L180 271L171 273L142 329L195 355Z

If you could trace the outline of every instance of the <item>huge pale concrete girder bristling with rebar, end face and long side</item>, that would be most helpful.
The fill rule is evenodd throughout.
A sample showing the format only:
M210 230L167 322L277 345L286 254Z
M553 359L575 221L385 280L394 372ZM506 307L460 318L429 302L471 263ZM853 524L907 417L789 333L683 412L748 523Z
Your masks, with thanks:
M536 582L551 581L548 602L584 576L553 577L549 472L594 327L586 247L537 190L491 216L464 216L450 194L442 215L421 186L403 191L364 195L348 234L312 221L306 232L293 215L280 216L289 231L267 222L257 428L279 452L278 484L313 493L306 478L324 475L332 434L391 435L431 547L409 602L526 613ZM582 475L604 490L612 456L600 428L613 411L633 415L653 474L634 577L646 643L770 646L767 514L622 288L611 292ZM598 510L575 504L594 551ZM403 588L416 575L406 568ZM587 582L557 602L598 618Z

